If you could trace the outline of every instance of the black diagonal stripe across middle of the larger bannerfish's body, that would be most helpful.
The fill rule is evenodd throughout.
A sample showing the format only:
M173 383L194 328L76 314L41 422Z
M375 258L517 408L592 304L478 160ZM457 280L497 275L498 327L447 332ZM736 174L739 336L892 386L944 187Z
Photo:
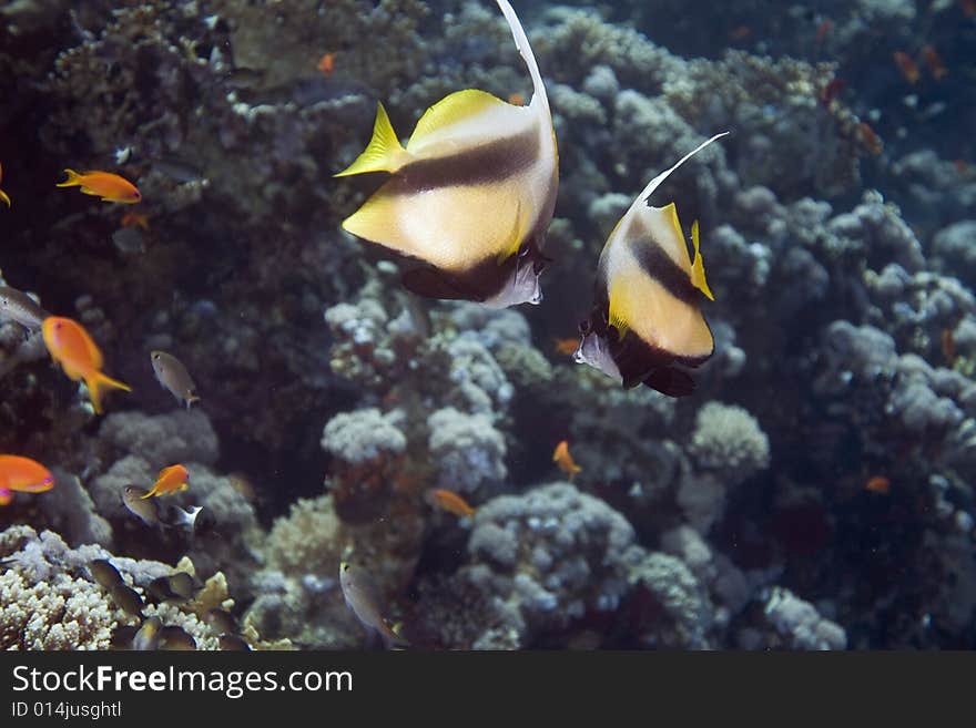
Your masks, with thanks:
M410 162L394 174L385 192L413 195L438 187L504 182L535 164L539 153L538 132L529 129L458 154Z

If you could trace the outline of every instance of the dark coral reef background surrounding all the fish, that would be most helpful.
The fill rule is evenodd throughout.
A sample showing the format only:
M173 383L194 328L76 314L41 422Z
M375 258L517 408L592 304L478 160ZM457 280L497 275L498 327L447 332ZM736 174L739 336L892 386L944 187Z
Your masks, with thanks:
M55 479L0 506L0 647L129 647L152 616L197 648L383 647L344 562L419 649L976 646L976 2L515 9L560 185L545 300L492 310L404 290L340 227L376 180L332 175L377 102L403 133L461 89L531 98L495 3L0 2L0 286L132 388L96 414L0 320L0 453ZM723 131L655 193L700 221L714 355L688 397L624 389L571 357L600 250ZM148 502L191 529L123 499L174 463Z

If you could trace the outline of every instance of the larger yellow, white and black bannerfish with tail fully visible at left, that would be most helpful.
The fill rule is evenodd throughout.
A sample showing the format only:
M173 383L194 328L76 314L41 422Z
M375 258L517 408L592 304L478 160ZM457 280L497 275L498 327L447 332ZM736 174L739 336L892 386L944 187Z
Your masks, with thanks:
M404 274L408 290L505 308L542 300L559 155L528 38L508 0L497 2L532 78L529 105L477 89L451 93L426 111L404 148L379 104L366 151L335 176L393 175L343 227L426 263Z

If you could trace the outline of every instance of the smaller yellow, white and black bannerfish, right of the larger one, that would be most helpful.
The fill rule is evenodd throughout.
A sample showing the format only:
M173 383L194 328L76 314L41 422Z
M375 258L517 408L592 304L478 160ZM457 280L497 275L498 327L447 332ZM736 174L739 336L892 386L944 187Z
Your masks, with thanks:
M692 226L694 262L674 203L648 199L684 162L716 134L651 180L624 213L600 253L596 304L580 324L577 363L587 363L631 388L643 382L669 397L694 390L694 380L674 365L701 366L714 350L712 331L699 308L714 299L705 280L698 224Z

